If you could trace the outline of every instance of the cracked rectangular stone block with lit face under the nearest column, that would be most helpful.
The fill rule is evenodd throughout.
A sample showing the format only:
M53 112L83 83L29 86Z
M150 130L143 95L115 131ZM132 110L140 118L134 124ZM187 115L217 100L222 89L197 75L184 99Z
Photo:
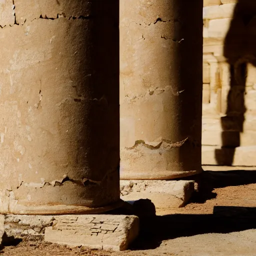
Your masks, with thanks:
M44 240L119 251L128 248L138 231L138 217L133 215L59 215L45 228Z

